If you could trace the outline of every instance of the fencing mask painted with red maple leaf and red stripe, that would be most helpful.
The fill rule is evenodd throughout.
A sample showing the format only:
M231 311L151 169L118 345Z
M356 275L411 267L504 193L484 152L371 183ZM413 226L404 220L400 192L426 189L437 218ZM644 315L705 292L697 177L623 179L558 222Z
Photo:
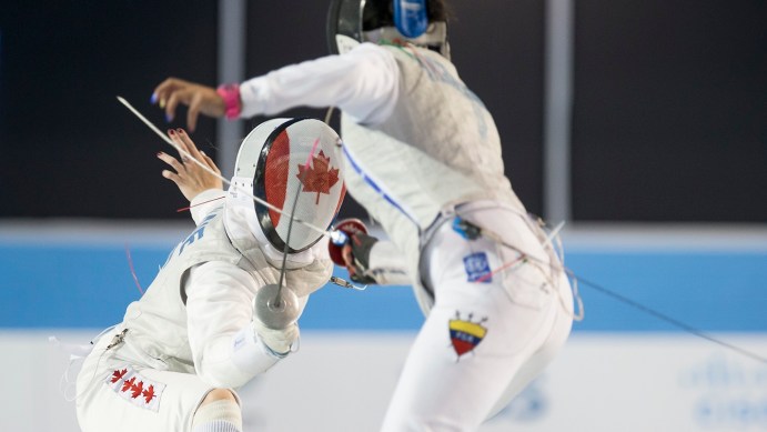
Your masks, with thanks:
M327 229L345 194L343 165L335 148L341 139L315 119L272 119L259 124L242 141L232 184L314 227ZM236 193L236 189L230 193ZM252 199L251 199L252 201ZM302 252L322 233L252 202L248 224L277 251ZM263 235L261 235L263 234Z

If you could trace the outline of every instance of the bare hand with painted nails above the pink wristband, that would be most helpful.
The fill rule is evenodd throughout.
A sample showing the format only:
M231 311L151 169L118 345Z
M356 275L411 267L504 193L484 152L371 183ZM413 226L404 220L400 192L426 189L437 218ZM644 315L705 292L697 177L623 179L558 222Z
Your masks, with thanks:
M226 107L223 98L212 87L169 78L160 83L152 93L152 102L165 109L165 119L173 120L179 103L189 107L186 125L194 132L198 117L203 113L209 117L223 117Z

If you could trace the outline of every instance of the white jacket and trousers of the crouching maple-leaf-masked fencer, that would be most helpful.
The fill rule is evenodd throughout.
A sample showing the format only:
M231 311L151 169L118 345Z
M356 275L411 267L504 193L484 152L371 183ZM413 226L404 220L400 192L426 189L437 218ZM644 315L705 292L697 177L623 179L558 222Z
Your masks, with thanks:
M220 193L203 192L192 204ZM279 361L254 331L253 299L277 282L281 262L250 234L230 197L193 207L193 217L196 229L144 295L94 341L77 381L84 432L189 431L210 390L236 389ZM302 307L331 275L326 248L321 241L292 257L285 283Z

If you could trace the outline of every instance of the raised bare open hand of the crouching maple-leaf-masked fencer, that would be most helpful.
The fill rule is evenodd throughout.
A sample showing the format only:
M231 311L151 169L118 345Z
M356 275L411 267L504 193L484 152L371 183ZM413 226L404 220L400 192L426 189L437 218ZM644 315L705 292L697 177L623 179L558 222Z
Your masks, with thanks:
M194 142L183 129L170 129L168 131L168 137L170 137L180 149L189 153L189 155L221 175L219 167L215 165L208 154L198 150ZM223 181L221 181L219 177L213 175L194 163L194 161L189 160L183 153L181 154L181 161L164 152L159 152L158 158L175 170L175 172L163 170L162 177L172 180L189 201L192 201L200 192L209 189L223 189Z

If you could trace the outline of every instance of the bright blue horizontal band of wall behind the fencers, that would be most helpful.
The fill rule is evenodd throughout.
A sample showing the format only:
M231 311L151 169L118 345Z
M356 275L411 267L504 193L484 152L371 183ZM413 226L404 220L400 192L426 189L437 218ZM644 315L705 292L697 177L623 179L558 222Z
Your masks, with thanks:
M149 287L172 244L0 243L0 328L104 328ZM131 260L128 258L130 252ZM706 331L767 331L763 249L568 248L586 319L576 332L679 331L605 294L606 288ZM343 271L337 275L345 277ZM408 287L360 292L329 284L312 295L303 329L412 330L422 314Z

